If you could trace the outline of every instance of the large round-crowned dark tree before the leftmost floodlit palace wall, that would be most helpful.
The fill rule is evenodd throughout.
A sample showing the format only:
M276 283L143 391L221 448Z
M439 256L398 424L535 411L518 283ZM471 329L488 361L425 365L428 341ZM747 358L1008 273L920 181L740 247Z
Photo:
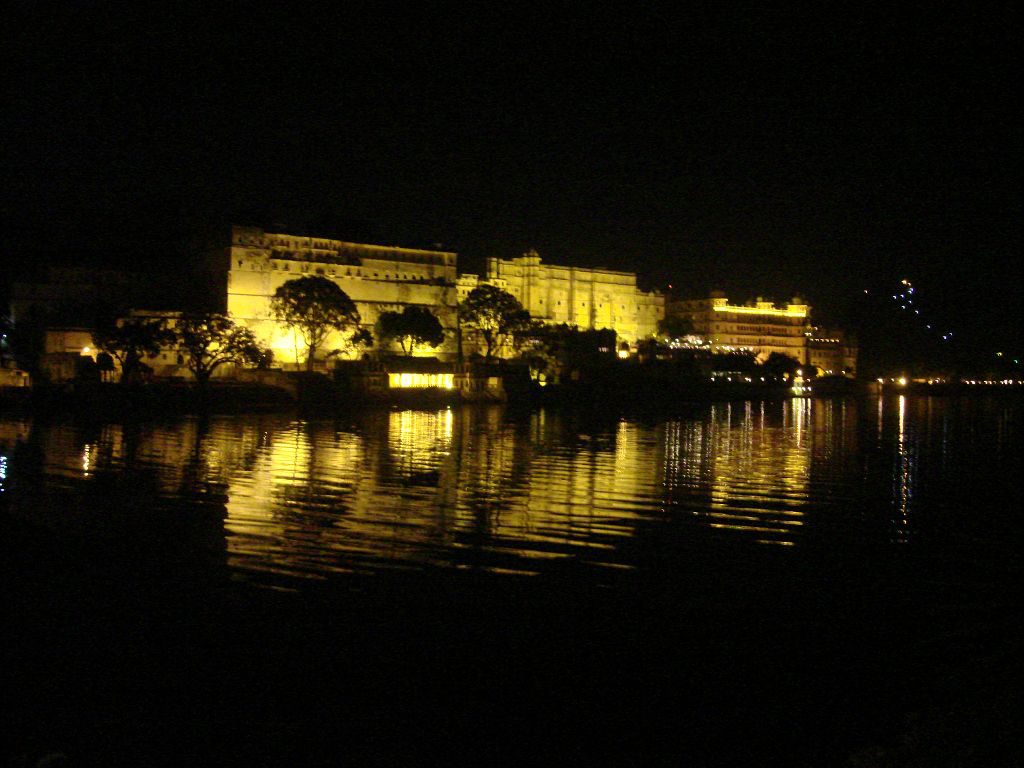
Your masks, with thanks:
M307 371L312 371L316 350L331 333L345 333L359 325L355 302L335 283L321 276L288 281L274 291L270 312L302 337Z

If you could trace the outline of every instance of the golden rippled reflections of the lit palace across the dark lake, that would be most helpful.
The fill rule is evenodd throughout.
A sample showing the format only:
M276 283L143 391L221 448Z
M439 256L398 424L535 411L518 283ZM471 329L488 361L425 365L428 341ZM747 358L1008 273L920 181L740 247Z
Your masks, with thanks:
M653 424L500 408L351 422L9 420L0 488L13 513L82 536L163 546L153 531L184 525L232 572L270 582L424 565L621 568L638 564L631 541L665 525L696 543L835 547L871 536L870 510L889 509L888 537L905 544L919 487L955 472L958 440L990 424L998 467L1018 423L905 396L716 403Z

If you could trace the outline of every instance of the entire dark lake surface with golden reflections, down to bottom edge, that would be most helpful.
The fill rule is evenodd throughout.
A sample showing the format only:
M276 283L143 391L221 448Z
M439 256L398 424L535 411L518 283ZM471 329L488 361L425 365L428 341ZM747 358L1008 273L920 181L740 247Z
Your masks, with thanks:
M5 757L1019 764L1016 399L629 413L0 419Z

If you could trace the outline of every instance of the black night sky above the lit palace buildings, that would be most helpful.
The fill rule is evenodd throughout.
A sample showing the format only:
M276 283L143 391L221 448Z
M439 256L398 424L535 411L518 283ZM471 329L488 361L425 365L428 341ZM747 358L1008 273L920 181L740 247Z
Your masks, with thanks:
M253 222L823 319L907 278L937 325L1020 344L1013 4L341 7L8 14L7 263L170 266Z

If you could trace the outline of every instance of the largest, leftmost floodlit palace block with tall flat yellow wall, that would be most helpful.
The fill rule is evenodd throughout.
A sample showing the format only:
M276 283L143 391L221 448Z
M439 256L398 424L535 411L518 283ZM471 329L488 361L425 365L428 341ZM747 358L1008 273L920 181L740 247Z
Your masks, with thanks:
M446 346L454 349L454 253L234 226L226 258L228 262L222 268L226 266L227 311L267 343L279 360L304 359L304 348L291 332L270 318L270 298L288 281L307 275L324 276L337 284L355 302L367 329L373 328L381 312L400 311L409 305L428 307L447 332ZM335 338L328 341L324 351L342 345Z

